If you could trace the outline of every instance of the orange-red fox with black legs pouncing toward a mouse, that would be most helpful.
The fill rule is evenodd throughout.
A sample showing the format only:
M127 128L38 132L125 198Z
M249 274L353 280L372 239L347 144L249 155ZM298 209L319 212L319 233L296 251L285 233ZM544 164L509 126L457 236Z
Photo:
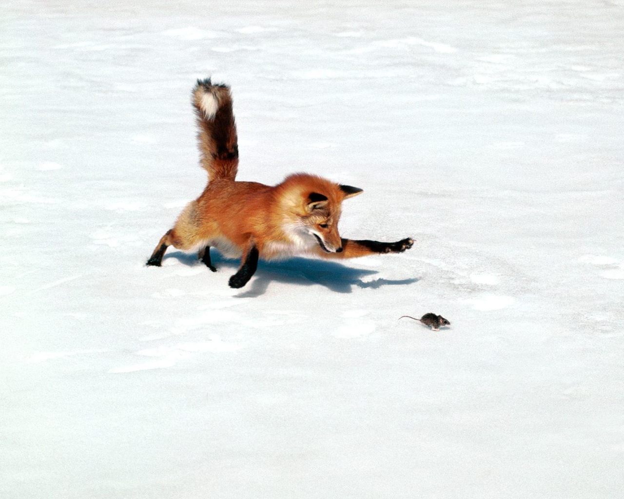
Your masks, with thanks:
M242 288L258 266L258 258L288 258L316 254L323 258L354 258L375 253L401 253L414 244L411 238L396 243L354 241L338 233L343 200L362 192L325 178L295 173L273 187L258 182L236 182L238 145L230 87L197 80L193 106L199 127L202 167L208 185L190 202L171 230L162 236L148 265L160 266L168 246L198 251L213 272L210 246L241 258L230 278Z

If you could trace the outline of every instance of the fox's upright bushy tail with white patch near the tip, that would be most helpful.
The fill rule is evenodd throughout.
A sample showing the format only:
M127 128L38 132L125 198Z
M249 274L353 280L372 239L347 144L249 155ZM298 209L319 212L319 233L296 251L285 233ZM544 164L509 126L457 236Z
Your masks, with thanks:
M208 172L208 181L234 180L238 171L238 137L230 87L212 84L210 78L197 80L193 107L199 127L201 165Z

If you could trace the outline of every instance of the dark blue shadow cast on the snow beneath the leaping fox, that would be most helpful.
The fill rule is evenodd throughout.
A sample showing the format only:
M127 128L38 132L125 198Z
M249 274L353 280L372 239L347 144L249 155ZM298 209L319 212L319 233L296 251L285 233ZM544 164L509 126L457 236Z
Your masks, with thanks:
M202 265L196 254L175 253L167 254L165 257L175 258L187 266ZM228 275L234 274L240 260L235 258L225 258L215 249L210 249L210 258L212 264L217 267L218 272L227 272ZM376 270L351 268L334 261L318 260L313 258L293 257L281 261L262 261L258 262L258 270L246 284L245 288L238 294L241 298L260 296L264 294L271 281L280 283L300 284L310 286L310 284L321 284L336 293L351 293L352 286L359 288L381 288L381 286L401 285L416 283L418 278L409 279L374 279L371 281L363 281L365 276L377 274ZM212 274L208 271L208 274Z

